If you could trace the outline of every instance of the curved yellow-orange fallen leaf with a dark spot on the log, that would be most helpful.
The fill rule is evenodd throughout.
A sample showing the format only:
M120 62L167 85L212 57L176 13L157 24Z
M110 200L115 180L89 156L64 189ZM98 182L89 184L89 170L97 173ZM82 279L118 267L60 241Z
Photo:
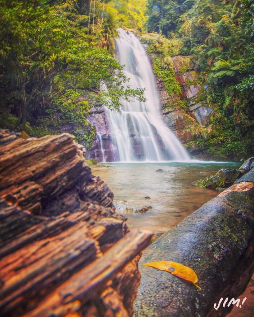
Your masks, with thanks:
M181 263L173 261L157 261L151 263L144 263L143 265L157 268L158 270L166 271L183 278L184 280L192 282L198 289L201 289L196 283L198 281L197 274L192 268L185 266Z

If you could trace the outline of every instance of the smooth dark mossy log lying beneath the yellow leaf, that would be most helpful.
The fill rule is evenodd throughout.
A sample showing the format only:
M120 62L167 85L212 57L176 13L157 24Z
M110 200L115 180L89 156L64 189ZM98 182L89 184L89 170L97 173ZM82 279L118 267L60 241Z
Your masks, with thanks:
M144 251L135 316L225 316L232 305L216 310L214 304L243 293L254 271L253 250L254 168ZM142 265L154 261L192 268L202 289Z

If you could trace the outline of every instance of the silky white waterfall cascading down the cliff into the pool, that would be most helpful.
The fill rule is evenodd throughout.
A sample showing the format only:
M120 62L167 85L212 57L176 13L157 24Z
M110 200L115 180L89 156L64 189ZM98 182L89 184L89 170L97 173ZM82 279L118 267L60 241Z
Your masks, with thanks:
M177 137L164 124L150 61L131 32L119 29L115 57L124 66L131 88L145 88L146 102L127 102L119 112L105 109L114 161L190 160Z

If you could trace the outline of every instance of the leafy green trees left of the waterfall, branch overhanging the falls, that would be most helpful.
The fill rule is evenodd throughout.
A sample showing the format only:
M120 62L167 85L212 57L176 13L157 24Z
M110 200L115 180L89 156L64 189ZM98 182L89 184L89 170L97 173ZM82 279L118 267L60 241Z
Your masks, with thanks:
M0 0L1 127L25 129L29 121L29 134L40 136L72 125L76 140L89 145L93 104L118 110L121 98L144 100L109 53L117 35L109 4L90 9L89 1Z

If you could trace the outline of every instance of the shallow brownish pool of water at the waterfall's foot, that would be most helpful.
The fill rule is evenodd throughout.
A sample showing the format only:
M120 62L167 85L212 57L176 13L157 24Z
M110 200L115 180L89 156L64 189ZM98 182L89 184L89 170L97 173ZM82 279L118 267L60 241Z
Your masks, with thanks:
M128 217L129 228L166 231L211 198L218 191L192 185L221 168L237 168L237 163L106 163L93 167L114 193L119 213ZM163 171L159 172L158 169ZM150 199L143 197L149 196ZM126 214L125 208L151 206L146 213Z

